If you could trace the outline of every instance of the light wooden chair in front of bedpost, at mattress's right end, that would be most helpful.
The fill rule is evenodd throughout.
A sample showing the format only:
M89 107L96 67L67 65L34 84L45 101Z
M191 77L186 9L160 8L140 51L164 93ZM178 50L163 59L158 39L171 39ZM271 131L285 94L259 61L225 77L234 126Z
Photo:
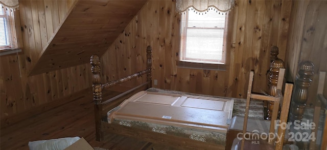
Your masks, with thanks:
M281 69L280 73L285 73L285 69ZM284 75L279 75L278 77L278 82L283 83L283 78ZM278 107L279 104L281 104L281 115L280 115L280 121L281 123L286 123L287 118L288 118L288 112L289 112L289 107L290 107L290 102L291 102L291 95L292 95L292 90L293 90L293 84L286 83L285 85L285 94L283 96L282 94L282 83L279 83L277 87L277 96L272 97L272 96L265 96L265 95L259 95L259 94L253 94L252 93L252 82L253 82L253 72L250 72L250 77L249 77L249 85L248 85L248 91L247 91L247 99L246 99L246 109L245 109L245 116L244 116L244 121L243 121L243 131L242 135L249 135L253 138L253 133L247 132L247 125L248 125L248 114L249 114L249 105L250 105L250 100L251 99L257 99L257 100L264 100L264 101L273 101L274 102L274 109L273 109L273 114L271 117L271 122L270 122L270 127L269 127L269 133L275 134L275 122L277 119L277 113L278 113ZM243 119L242 117L238 117L239 119ZM261 122L261 123L260 123ZM253 123L252 121L250 122L250 126L254 129L259 129L259 126L265 126L266 121L264 120L259 120L256 123ZM230 125L232 126L232 125ZM233 145L231 149L283 149L283 142L285 138L285 128L281 126L278 127L277 135L279 137L279 140L277 138L272 138L269 136L256 136L256 139L251 139L251 140L245 140L245 138L242 138L242 140L239 140L236 138L233 141ZM269 135L269 133L266 133ZM228 133L227 133L228 134ZM259 135L259 134L258 134ZM244 136L242 136L244 137ZM268 138L270 139L265 140L261 139L262 138ZM281 140L283 139L283 140ZM245 148L246 147L246 148Z

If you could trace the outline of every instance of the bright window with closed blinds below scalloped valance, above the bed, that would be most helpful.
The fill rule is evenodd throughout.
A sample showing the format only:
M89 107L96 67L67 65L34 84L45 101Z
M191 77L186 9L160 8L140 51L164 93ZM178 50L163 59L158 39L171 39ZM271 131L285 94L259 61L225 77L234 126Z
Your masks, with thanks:
M215 8L182 14L180 50L177 66L225 70L229 13Z

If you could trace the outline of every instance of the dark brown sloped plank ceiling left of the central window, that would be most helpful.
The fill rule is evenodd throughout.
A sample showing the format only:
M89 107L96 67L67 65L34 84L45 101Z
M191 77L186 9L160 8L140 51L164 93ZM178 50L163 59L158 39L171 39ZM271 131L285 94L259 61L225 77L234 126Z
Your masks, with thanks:
M78 1L29 75L88 63L92 54L101 56L145 3Z

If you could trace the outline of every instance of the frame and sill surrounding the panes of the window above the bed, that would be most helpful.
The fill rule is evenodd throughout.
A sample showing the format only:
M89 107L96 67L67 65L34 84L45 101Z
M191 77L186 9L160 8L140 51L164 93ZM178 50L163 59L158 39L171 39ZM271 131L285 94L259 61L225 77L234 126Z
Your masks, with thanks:
M189 13L188 11L184 12L181 14L181 19L180 19L180 44L179 44L179 53L178 53L178 61L176 62L177 67L180 68L193 68L193 69L206 69L206 70L226 70L226 66L227 66L227 54L228 54L228 49L227 49L227 45L228 45L228 37L230 36L230 34L228 34L229 32L229 26L230 26L230 12L223 12L223 13L228 13L228 15L225 16L225 21L227 21L227 23L225 23L225 26L219 27L219 28L215 28L215 29L224 29L224 34L223 34L223 46L222 46L222 60L221 61L217 61L217 63L205 63L203 62L195 62L194 60L185 58L185 56L183 57L182 53L186 50L186 39L188 38L186 36L187 33L187 29L189 28L206 28L206 27L188 27L188 19L189 19ZM184 16L182 16L184 15ZM185 20L183 20L183 18L186 18ZM184 22L184 23L183 23ZM185 29L186 31L183 32L182 27ZM210 29L210 27L207 27L208 29ZM205 59L204 59L205 60ZM211 60L209 60L211 61Z

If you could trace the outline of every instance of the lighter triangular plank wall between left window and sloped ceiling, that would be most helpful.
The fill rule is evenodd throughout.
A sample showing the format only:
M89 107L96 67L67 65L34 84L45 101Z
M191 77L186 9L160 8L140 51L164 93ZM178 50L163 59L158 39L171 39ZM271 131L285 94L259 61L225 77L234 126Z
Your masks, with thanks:
M75 2L77 1L19 1L27 73L37 62L42 49L48 46Z

